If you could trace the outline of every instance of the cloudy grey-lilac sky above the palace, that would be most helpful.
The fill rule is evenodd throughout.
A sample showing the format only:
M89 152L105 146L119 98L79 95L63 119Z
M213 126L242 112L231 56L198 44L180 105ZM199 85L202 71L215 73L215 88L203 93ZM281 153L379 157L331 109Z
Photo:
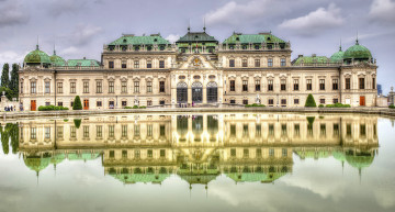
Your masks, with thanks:
M122 33L160 33L174 42L207 32L221 42L234 31L272 31L298 54L330 56L354 44L371 49L384 92L395 86L395 0L0 0L0 66L22 63L35 48L66 59L100 60L103 44Z

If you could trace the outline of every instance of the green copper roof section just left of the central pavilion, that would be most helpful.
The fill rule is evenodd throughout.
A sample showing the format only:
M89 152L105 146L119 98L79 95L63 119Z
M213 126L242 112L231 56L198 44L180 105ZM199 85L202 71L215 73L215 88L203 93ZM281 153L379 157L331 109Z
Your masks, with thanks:
M134 36L123 35L122 37L111 42L109 45L165 45L170 44L167 40L161 37L159 34L149 36Z

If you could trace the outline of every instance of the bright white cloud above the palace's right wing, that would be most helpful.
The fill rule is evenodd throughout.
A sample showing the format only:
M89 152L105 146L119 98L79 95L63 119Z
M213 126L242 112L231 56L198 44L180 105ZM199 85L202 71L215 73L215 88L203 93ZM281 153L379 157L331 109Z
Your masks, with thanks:
M331 3L327 9L318 8L304 16L285 20L279 27L291 30L301 35L315 35L340 26L343 22L340 9Z

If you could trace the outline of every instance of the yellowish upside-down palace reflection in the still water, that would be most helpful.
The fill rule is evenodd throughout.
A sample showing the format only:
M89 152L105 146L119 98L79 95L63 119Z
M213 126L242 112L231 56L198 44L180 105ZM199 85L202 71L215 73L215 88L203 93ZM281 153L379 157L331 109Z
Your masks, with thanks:
M293 154L332 156L361 174L377 154L376 125L376 116L352 114L140 114L21 121L15 131L37 175L66 159L101 158L104 174L124 183L178 175L207 185L219 175L273 182L292 172Z

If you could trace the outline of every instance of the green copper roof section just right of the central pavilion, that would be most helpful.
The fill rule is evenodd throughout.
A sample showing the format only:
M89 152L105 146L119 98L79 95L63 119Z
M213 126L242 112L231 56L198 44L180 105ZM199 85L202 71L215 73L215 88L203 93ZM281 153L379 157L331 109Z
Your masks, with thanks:
M285 41L272 35L271 33L261 34L240 34L234 33L224 41L224 44L261 44L261 43L285 43Z

